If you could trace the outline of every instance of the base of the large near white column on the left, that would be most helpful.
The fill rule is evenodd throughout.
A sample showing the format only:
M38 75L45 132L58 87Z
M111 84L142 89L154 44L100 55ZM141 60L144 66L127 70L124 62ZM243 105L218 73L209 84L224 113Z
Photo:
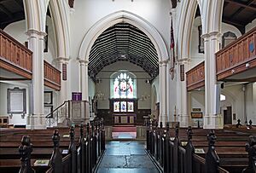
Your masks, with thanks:
M45 130L46 129L44 115L29 115L27 116L26 120L27 120L27 124L26 124L27 130Z

